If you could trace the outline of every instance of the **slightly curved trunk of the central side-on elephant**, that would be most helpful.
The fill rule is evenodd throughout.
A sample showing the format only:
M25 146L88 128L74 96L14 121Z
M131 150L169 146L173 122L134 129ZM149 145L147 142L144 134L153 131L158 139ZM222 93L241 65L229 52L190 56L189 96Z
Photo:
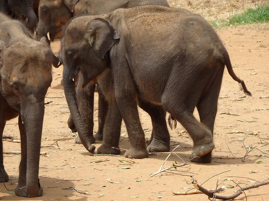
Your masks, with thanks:
M68 70L67 66L64 66L63 70L63 84L65 97L67 100L67 104L73 118L74 124L77 128L77 132L80 136L81 143L83 146L91 153L94 153L95 146L91 144L91 139L87 133L87 128L85 127L85 123L82 120L79 109L77 106L77 99L75 96L75 82L72 80L74 75L71 74Z

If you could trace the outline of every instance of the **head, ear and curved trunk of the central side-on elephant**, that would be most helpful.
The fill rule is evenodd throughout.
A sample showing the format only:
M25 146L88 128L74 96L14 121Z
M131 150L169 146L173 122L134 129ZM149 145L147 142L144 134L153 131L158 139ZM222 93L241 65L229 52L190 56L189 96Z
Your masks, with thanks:
M75 97L74 77L83 75L83 87L109 66L108 52L119 36L111 23L103 18L87 21L88 16L75 18L67 26L61 43L61 60L64 65L63 83L65 96L74 124L84 147L94 153L95 147L88 139L87 129L80 116ZM84 19L86 19L84 21ZM87 25L85 25L87 24Z

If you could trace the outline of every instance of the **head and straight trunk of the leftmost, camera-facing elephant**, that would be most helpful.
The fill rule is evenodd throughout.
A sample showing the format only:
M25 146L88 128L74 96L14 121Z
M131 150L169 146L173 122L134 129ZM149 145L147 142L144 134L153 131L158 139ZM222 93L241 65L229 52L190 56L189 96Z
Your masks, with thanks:
M8 104L20 113L25 127L29 197L37 197L39 191L44 99L51 81L51 52L45 44L15 42L6 47L0 40L0 90Z

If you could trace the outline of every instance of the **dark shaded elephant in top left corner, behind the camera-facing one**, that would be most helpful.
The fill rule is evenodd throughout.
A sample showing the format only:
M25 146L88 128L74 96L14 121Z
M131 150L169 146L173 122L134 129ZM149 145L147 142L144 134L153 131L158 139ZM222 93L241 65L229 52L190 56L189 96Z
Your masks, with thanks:
M0 11L26 22L26 26L33 30L37 25L38 5L39 0L0 0Z

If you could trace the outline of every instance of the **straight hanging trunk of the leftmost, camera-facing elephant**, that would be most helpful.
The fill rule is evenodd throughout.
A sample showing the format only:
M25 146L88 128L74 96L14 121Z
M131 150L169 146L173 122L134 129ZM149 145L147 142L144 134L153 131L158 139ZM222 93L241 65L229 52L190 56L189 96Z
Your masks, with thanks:
M29 197L37 197L39 192L39 155L44 110L44 101L37 102L33 95L28 96L21 104L21 117L27 139L26 190Z

